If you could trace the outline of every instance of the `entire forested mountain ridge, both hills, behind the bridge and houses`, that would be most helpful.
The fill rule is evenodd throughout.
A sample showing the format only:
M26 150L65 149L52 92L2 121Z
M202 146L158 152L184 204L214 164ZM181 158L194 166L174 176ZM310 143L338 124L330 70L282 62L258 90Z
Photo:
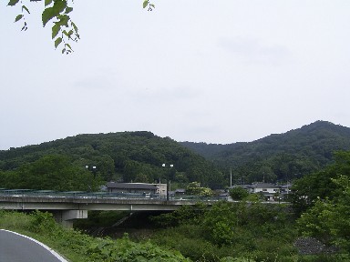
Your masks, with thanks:
M229 186L231 172L233 183L293 180L332 163L337 150L350 150L350 128L326 121L228 145L176 142L148 131L86 134L0 150L0 173L43 156L61 155L80 168L98 166L105 181L168 178L178 185L197 181L220 188ZM162 168L162 164L175 167Z

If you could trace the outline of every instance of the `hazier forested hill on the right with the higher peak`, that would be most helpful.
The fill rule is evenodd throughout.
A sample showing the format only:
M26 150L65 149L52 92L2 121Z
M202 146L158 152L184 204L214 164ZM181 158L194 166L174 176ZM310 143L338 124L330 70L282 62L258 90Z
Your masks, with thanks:
M233 176L239 182L291 180L331 163L333 152L350 150L350 128L316 121L249 143L181 144L226 169L226 172L232 168Z

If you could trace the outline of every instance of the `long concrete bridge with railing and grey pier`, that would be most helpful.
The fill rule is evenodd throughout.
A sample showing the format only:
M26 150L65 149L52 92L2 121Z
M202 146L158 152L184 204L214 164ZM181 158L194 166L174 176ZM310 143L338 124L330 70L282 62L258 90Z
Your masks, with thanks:
M167 200L142 194L13 191L10 194L0 192L0 209L49 211L54 214L57 222L65 227L73 227L74 219L88 218L88 210L173 211L198 202L211 205L218 200L217 197L198 196L170 197L170 200Z

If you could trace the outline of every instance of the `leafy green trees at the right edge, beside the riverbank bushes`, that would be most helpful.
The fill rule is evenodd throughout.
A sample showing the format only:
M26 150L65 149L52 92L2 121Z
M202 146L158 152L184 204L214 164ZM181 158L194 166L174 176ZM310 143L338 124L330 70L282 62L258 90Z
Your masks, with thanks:
M335 164L304 176L293 190L300 233L334 245L350 261L350 152L338 153Z

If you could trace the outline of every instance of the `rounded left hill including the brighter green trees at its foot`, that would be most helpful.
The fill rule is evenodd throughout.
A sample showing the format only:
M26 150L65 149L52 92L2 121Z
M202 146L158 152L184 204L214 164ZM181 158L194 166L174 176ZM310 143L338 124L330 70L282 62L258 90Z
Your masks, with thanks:
M97 190L108 181L168 179L179 186L192 181L213 188L225 184L221 171L203 156L150 132L78 135L10 148L0 152L0 170L6 188Z

